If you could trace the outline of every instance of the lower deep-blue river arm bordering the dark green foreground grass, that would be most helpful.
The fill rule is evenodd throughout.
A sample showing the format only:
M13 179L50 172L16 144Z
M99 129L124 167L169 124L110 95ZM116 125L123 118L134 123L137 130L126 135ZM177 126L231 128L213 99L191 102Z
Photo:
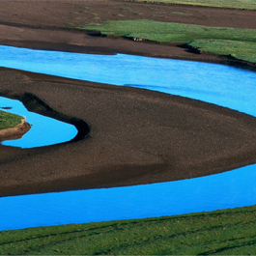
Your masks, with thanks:
M255 165L153 185L0 198L0 230L143 218L256 204Z

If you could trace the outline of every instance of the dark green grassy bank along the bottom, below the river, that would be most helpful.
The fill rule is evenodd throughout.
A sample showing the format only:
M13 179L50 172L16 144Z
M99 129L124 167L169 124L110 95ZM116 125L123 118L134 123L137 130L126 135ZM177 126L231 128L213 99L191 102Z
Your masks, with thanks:
M0 254L255 255L256 206L0 232Z

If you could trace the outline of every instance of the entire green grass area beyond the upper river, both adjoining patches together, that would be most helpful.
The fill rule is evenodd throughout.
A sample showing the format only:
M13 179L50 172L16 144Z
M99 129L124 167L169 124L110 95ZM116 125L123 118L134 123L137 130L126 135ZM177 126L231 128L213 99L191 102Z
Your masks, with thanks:
M208 27L147 19L105 21L78 29L113 37L140 38L158 43L188 43L218 55L256 63L256 30Z

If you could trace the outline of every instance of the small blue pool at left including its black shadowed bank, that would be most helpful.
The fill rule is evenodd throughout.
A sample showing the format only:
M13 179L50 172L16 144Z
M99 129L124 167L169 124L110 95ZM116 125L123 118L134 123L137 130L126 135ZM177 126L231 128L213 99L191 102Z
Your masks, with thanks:
M5 109L6 112L25 117L32 128L22 138L3 141L2 145L23 149L43 147L77 141L88 136L91 131L90 126L83 120L60 114L35 95L29 93L16 95L11 92L4 95L19 100L0 97L0 107L8 107ZM33 109L34 112L28 109Z

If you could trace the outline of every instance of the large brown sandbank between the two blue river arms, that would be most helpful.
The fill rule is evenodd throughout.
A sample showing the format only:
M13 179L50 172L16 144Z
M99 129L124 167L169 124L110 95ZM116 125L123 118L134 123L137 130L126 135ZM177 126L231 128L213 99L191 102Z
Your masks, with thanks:
M0 146L1 196L173 181L256 159L256 119L237 111L24 71L1 69L0 77L5 96L91 128L88 137L70 143L23 150Z

